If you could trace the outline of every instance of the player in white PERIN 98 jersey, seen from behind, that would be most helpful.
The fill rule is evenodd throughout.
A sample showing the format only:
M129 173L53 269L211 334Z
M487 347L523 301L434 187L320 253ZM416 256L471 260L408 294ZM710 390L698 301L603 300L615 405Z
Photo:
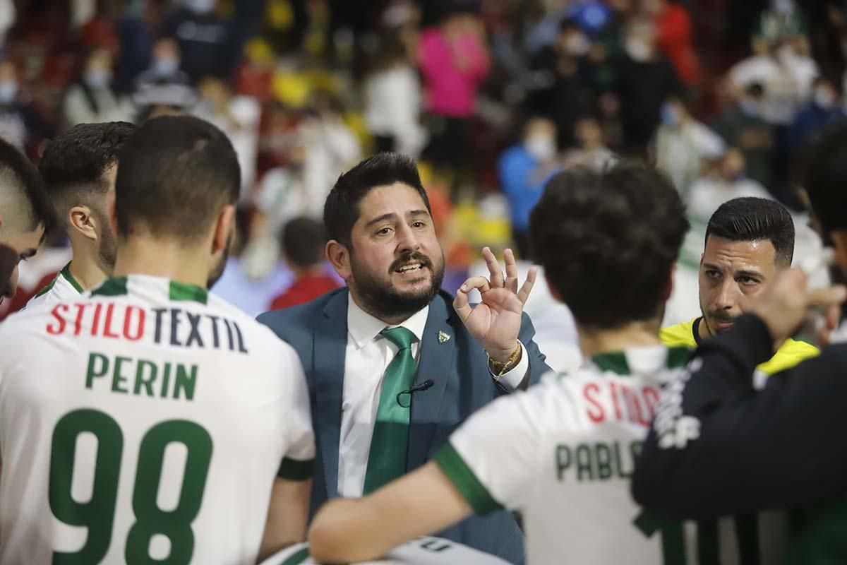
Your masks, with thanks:
M119 162L113 277L0 325L0 562L252 564L303 539L314 440L296 352L207 291L235 151L165 117Z

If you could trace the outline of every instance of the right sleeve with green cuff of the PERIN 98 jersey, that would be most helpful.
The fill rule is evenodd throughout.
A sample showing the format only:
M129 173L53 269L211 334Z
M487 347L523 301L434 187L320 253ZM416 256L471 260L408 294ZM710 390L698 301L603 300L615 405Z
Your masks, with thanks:
M286 344L287 345L287 344ZM306 480L312 478L315 457L315 436L312 430L312 410L309 407L309 393L306 374L300 357L291 347L286 347L291 367L286 371L289 379L290 402L285 424L288 430L287 451L280 464L280 479Z

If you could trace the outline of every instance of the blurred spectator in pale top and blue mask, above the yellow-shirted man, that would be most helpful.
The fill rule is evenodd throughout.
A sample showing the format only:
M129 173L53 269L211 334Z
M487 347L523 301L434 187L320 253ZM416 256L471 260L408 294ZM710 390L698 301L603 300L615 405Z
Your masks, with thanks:
M671 178L685 199L691 183L700 176L702 163L720 158L726 147L720 136L691 115L678 96L667 98L661 115L654 143L656 167Z

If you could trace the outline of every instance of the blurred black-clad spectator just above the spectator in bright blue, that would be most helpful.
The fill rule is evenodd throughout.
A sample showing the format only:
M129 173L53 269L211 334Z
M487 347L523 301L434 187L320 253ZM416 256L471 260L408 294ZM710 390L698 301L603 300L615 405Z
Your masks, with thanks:
M556 41L544 47L530 61L532 84L526 109L552 119L562 133L560 147L572 144L573 126L589 105L585 56L591 47L589 37L574 19L564 19Z

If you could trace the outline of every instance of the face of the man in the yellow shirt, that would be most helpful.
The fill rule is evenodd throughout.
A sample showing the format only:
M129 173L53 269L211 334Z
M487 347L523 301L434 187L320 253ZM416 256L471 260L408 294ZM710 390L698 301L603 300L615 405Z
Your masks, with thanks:
M730 241L709 235L700 260L700 311L708 335L729 330L734 319L748 310L776 276L775 259L771 241Z

